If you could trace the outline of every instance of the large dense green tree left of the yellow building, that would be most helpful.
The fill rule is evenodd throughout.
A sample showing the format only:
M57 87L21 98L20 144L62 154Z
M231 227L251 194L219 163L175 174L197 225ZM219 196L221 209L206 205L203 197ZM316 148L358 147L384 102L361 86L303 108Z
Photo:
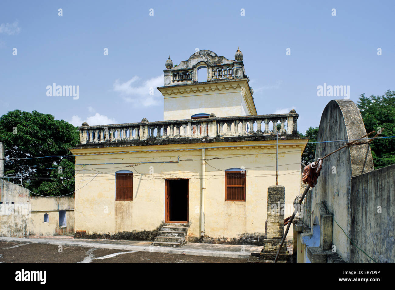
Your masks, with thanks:
M74 191L75 159L68 150L79 143L76 127L50 114L13 110L0 117L9 181L48 196ZM49 157L47 157L49 156Z

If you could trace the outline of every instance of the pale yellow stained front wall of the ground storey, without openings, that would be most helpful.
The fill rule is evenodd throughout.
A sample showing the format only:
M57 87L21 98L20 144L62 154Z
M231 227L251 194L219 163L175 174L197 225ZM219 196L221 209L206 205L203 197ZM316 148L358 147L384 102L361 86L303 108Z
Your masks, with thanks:
M293 200L300 190L300 160L306 142L282 140L279 146L279 184L285 186L289 211L286 210L286 215L292 214ZM207 147L217 148L205 149L205 236L237 239L245 233L264 234L267 187L275 185L275 141L211 143ZM187 178L189 233L199 237L201 148L202 144L173 144L71 150L76 154L75 231L115 234L154 230L164 221L165 179ZM133 152L78 155L129 150ZM224 170L229 168L246 170L245 202L225 201ZM133 201L115 201L115 172L118 170L133 172Z

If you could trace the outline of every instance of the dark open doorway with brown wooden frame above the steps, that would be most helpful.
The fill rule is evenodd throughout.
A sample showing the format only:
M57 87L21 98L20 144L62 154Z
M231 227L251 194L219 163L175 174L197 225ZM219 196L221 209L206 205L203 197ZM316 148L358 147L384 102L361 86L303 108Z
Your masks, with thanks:
M166 179L165 223L188 223L188 179Z

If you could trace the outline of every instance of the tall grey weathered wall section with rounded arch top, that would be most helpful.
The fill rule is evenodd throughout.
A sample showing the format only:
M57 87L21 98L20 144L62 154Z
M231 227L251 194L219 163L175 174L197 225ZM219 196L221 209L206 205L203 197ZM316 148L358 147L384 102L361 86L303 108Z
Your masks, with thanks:
M322 113L317 142L316 159L335 151L351 139L366 134L361 113L351 100L332 100ZM324 159L316 187L312 189L312 206L324 201L329 212L346 233L350 232L351 179L373 170L373 159L369 144L349 146ZM348 238L339 226L333 225L333 245L347 244ZM344 247L349 251L349 247ZM339 253L348 256L350 253Z

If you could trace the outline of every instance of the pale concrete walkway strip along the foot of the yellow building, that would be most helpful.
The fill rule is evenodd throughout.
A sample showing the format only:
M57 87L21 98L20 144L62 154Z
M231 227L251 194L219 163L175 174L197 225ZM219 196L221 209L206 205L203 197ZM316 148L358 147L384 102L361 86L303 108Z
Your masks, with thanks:
M54 238L56 237L56 238ZM9 238L0 237L0 241L17 241L25 243L41 243L63 246L77 246L100 249L116 249L126 251L141 251L150 253L186 254L194 256L248 258L251 253L260 253L262 246L250 245L218 245L203 243L187 243L179 248L154 247L150 241L126 241L112 239L73 239L58 238L59 236L47 238Z

